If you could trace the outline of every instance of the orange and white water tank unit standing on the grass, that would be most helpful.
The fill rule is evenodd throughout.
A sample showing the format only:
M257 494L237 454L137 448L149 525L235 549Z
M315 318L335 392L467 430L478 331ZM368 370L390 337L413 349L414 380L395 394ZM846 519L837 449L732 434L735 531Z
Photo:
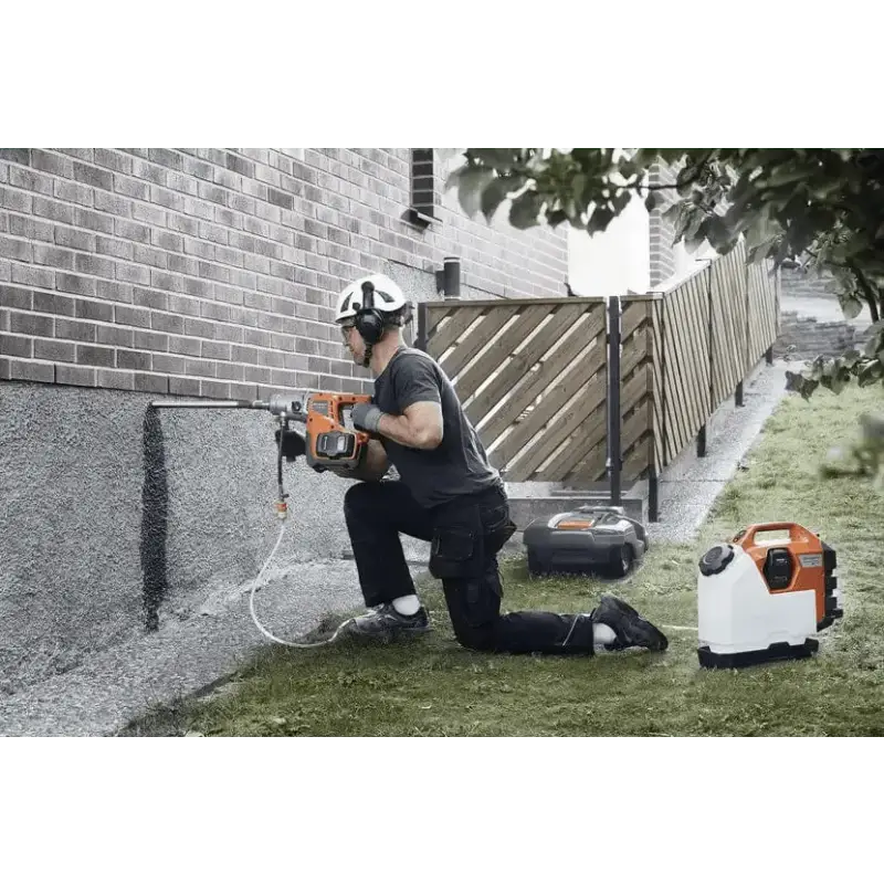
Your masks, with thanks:
M759 539L782 534L788 539ZM799 660L843 611L835 551L790 522L750 525L712 547L697 575L697 655L707 669Z

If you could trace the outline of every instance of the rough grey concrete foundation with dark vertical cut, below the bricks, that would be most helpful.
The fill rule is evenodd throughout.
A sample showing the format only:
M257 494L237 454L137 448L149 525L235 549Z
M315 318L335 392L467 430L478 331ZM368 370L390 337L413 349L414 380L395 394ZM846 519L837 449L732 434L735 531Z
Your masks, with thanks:
M187 621L254 579L270 554L270 414L148 410L155 398L0 383L0 694ZM350 551L350 483L303 461L284 465L284 482L277 564L296 580L298 565ZM406 546L425 561L429 545Z

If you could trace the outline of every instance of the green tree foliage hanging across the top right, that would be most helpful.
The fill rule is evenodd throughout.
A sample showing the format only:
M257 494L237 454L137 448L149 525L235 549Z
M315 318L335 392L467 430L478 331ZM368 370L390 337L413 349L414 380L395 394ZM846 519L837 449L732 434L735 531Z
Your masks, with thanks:
M449 187L471 217L491 220L509 201L518 230L569 223L601 233L633 199L654 209L669 203L674 242L708 243L727 254L745 239L748 260L787 260L831 273L846 317L867 307L875 324L864 351L819 358L789 388L810 397L818 387L840 392L884 381L884 145L832 147L708 147L645 145L635 150L577 141L570 150L513 143L471 141ZM663 162L674 185L650 185Z

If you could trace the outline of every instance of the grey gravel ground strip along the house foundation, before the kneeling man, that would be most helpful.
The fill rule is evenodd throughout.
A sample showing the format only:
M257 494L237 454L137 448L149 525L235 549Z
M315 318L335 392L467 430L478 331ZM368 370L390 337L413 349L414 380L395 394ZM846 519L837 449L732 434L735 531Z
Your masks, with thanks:
M188 621L171 623L7 697L0 702L0 735L113 736L151 705L222 678L267 643L252 621L250 590L251 585L227 598L217 597ZM319 561L296 573L272 575L255 594L255 611L266 630L291 640L316 627L329 608L352 608L360 599L352 561Z

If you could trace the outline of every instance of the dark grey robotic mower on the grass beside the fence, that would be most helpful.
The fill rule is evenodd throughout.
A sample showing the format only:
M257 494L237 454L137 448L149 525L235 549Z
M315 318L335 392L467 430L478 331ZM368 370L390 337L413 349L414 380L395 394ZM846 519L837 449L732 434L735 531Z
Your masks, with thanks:
M532 576L607 572L625 577L644 558L648 532L619 506L581 506L537 518L523 533Z

